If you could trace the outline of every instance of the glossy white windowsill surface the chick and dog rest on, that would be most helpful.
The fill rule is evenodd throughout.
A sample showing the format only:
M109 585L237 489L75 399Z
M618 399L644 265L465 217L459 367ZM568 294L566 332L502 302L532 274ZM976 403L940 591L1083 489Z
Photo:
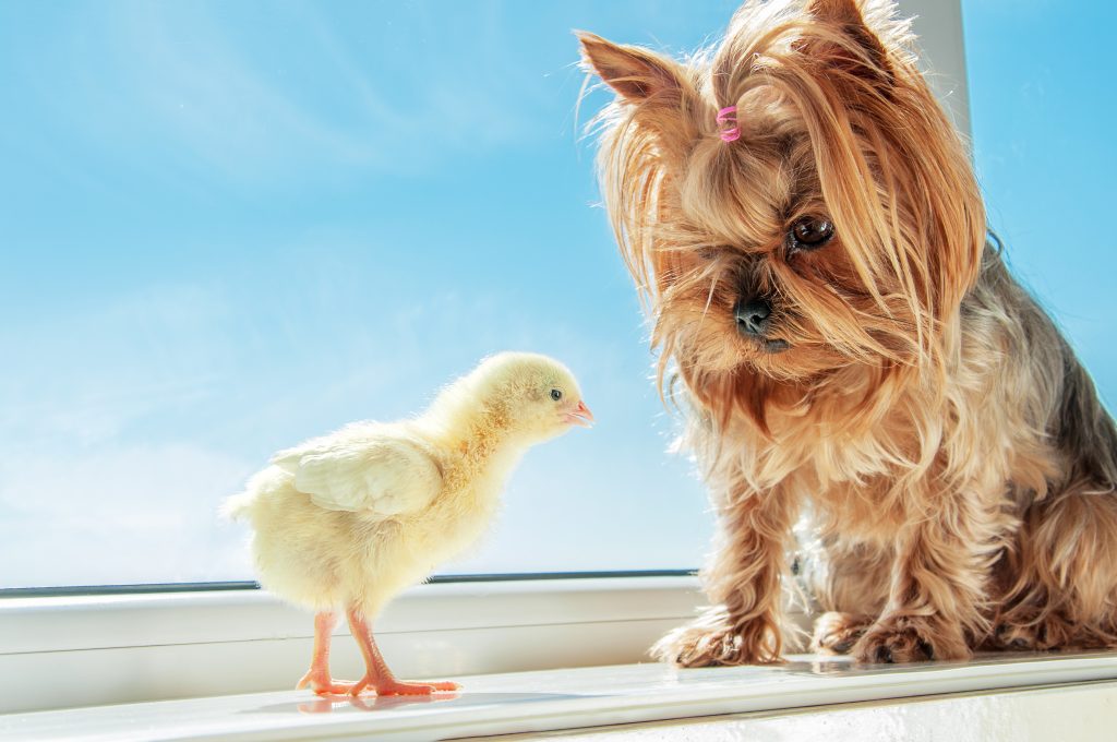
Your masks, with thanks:
M1117 684L1080 684L1115 678L1114 654L1001 655L962 664L866 668L853 668L843 659L793 656L777 667L676 670L647 664L462 677L458 678L464 685L459 694L436 700L326 700L285 691L13 714L0 716L0 736L433 740L1044 686L1059 686L1043 706L1049 724L1048 708L1059 708L1059 704L1066 708L1063 700L1077 697L1078 707L1094 716L1090 729L1106 729L1105 715L1097 714L1117 698ZM1030 698L1018 703L1027 710L1033 705ZM963 722L971 730L964 739L1009 739L1004 733L1011 732L995 727L996 719ZM1057 726L1070 729L1066 724L1081 726L1082 721L1070 719Z

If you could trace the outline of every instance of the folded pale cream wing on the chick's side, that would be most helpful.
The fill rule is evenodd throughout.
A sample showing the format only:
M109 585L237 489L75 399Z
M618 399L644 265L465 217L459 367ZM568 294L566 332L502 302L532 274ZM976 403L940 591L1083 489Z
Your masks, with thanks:
M438 464L412 438L381 434L312 440L271 463L318 507L398 515L429 504L442 486Z

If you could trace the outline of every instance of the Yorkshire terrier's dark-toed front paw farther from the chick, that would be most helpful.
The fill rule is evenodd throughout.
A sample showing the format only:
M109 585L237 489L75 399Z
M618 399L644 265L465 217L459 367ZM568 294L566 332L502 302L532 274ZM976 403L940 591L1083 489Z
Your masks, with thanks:
M853 646L862 663L913 663L968 659L973 656L960 629L920 617L882 618Z

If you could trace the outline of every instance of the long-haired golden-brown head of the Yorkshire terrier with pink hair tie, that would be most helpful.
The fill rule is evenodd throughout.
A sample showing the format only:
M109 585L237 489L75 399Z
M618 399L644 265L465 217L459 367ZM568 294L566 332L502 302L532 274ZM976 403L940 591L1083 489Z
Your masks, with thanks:
M892 13L751 0L685 61L580 35L617 94L599 167L618 241L663 363L710 407L763 418L757 396L952 352L984 210Z

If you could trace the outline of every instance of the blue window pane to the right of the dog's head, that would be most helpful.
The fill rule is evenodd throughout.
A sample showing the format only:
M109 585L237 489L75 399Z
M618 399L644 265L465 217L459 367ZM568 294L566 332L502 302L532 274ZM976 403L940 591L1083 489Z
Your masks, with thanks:
M965 0L962 9L990 226L1111 406L1117 65L1099 38L1117 26L1117 6Z

